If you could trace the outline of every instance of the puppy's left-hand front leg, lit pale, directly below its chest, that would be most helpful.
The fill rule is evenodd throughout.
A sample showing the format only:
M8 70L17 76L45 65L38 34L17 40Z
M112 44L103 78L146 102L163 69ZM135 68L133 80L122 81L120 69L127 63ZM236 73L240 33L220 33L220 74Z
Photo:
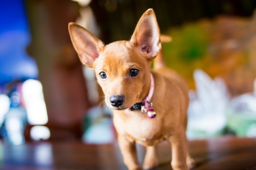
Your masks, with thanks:
M123 155L124 163L129 170L142 170L137 159L135 141L128 139L124 135L118 135L118 143Z

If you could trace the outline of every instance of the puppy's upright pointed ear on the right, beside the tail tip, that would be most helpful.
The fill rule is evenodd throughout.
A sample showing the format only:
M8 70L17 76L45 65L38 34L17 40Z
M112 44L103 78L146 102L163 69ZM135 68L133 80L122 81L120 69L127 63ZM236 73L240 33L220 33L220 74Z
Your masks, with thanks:
M161 50L160 31L153 9L148 9L139 19L130 43L139 52L153 60Z

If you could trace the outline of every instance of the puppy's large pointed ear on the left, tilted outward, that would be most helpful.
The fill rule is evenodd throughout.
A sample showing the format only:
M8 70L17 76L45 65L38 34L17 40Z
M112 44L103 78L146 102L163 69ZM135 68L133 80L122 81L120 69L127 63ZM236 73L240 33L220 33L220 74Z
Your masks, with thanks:
M68 24L68 30L80 61L88 67L93 67L94 61L104 46L103 42L76 23L70 22Z

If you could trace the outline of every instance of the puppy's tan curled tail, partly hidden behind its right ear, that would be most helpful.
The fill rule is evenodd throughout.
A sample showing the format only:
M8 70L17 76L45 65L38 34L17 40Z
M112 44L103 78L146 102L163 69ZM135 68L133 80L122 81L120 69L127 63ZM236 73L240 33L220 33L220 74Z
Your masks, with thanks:
M171 37L168 35L160 35L160 40L162 43L164 42L171 42ZM159 52L159 54L157 55L157 57L155 57L154 59L154 68L163 68L166 67L166 63L164 60L164 54L162 52L162 50Z

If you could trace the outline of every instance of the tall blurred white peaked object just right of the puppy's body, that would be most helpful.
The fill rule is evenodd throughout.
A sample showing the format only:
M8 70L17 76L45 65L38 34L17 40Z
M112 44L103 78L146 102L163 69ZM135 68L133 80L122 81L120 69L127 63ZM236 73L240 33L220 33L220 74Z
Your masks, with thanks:
M189 139L213 137L226 125L229 93L223 79L211 79L202 70L194 71L196 91L190 91Z

